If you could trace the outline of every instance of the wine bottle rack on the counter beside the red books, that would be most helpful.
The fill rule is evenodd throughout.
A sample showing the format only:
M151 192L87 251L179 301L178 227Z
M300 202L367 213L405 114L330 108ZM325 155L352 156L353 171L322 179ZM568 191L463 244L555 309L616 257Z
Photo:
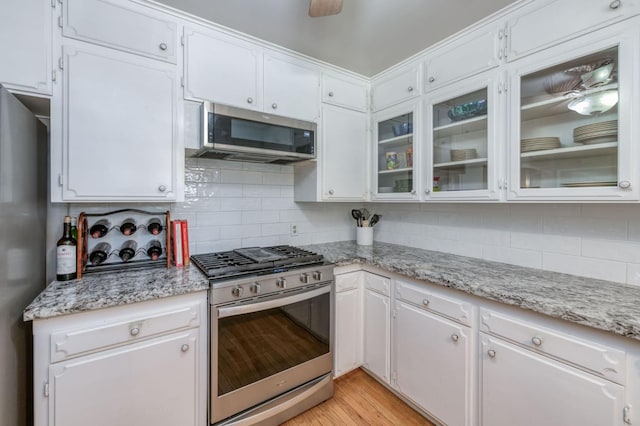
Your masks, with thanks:
M135 224L133 232L131 232L132 228L123 226L130 220ZM154 234L151 229L156 227L158 222L162 229ZM149 212L138 209L123 209L107 213L80 213L78 217L78 278L91 272L154 266L170 268L170 223L168 211ZM149 226L150 224L151 226ZM92 235L91 229L94 225L97 225L94 229L101 228L101 232L94 231ZM160 242L162 250L155 260L147 254L147 249L153 240ZM95 256L99 258L99 262L91 262L91 254L96 249L105 248L106 244L104 243L109 246L108 253L104 252L104 256L101 258ZM135 247L133 251L132 247ZM122 250L129 252L121 253ZM128 256L130 257L127 259Z

